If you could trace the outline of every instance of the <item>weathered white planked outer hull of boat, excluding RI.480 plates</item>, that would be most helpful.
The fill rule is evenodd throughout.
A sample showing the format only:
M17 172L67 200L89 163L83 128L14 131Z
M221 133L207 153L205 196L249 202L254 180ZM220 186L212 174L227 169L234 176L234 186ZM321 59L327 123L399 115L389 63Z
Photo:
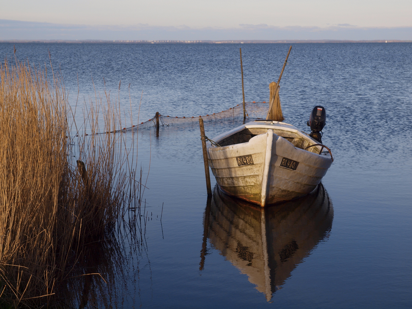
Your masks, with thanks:
M208 148L209 166L223 192L263 207L302 197L312 192L321 182L332 164L330 156L302 150L285 138L273 134L267 194L262 199L268 136L269 134L260 134L247 143ZM239 166L239 157L250 155L253 164ZM292 170L282 167L283 158L299 162L297 168Z

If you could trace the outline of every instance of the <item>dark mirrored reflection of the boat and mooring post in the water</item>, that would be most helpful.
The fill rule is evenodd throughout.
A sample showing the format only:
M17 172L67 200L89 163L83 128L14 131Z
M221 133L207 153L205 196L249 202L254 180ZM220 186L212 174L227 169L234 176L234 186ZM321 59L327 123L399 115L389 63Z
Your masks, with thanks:
M215 187L205 211L200 270L209 239L270 301L297 264L328 238L332 220L332 202L322 184L304 197L267 208Z

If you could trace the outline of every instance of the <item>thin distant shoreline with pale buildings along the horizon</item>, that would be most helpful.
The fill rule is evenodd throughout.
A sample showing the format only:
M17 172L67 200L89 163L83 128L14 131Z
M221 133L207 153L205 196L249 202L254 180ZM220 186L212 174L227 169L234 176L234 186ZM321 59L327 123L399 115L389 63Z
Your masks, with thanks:
M106 44L291 44L291 43L411 43L412 40L0 40L0 43L106 43Z

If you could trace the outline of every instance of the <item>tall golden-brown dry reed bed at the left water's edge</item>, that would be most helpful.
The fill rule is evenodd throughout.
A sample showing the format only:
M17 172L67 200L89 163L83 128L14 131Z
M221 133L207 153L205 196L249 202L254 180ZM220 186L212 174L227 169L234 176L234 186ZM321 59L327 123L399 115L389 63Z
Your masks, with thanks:
M133 132L119 131L117 98L96 94L76 124L60 75L49 75L0 66L2 306L49 307L90 244L140 209L137 150Z

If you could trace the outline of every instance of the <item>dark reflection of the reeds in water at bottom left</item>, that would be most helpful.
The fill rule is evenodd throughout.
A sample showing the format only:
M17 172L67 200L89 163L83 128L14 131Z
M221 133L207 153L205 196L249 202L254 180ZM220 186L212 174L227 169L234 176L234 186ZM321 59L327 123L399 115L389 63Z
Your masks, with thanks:
M59 287L56 307L142 305L138 288L141 264L150 269L145 236L139 225L123 223L117 232L106 235L103 240L90 242L84 248L84 254L77 260L66 284Z

